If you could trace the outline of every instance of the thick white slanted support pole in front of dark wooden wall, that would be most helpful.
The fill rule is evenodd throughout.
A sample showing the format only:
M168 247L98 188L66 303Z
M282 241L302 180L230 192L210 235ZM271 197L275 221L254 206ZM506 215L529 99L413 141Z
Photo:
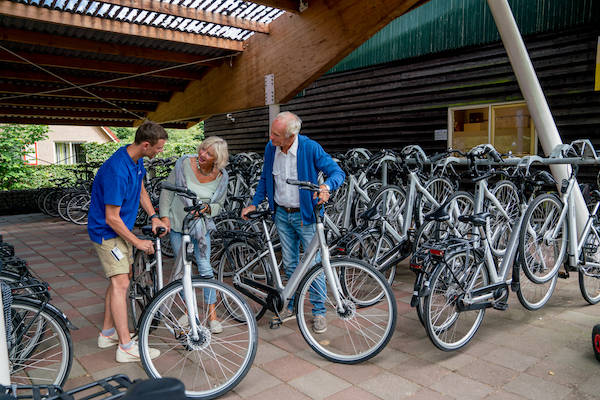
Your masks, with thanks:
M542 149L544 149L546 155L550 155L556 145L562 144L562 139L533 69L533 64L527 54L525 43L508 0L487 0L487 3L492 11L498 32L500 32L502 43L517 77L521 93L523 93L529 107ZM551 165L550 171L560 187L562 180L569 178L571 169L566 165ZM589 213L583 195L579 190L579 185L575 187L574 196L575 210L577 211L577 229L581 234Z

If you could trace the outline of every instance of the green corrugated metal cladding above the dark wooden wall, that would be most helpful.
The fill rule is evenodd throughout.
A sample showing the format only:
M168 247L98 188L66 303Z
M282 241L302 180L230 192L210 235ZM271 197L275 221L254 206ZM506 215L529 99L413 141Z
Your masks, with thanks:
M600 22L598 0L509 0L521 34ZM329 72L500 40L485 0L431 0L397 18Z

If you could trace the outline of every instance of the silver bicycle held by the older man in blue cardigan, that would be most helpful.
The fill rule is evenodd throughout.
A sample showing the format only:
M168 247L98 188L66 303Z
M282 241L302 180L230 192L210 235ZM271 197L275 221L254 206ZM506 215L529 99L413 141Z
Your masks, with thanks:
M287 183L300 190L318 192L319 186L311 182L288 179ZM260 312L272 311L276 317L271 327L281 325L280 312L294 299L293 309L298 327L308 345L329 361L355 364L378 354L389 342L396 324L396 302L392 290L381 273L363 261L330 257L325 230L315 206L316 233L304 249L304 256L284 286L266 219L271 211L253 211L247 216L260 220L266 238L267 254L236 263L234 254L225 251L233 286L252 299ZM320 251L321 262L312 266ZM223 268L222 263L219 268ZM224 276L220 271L219 276ZM311 299L324 300L327 330L314 333L310 328L313 318ZM238 315L239 320L244 320Z

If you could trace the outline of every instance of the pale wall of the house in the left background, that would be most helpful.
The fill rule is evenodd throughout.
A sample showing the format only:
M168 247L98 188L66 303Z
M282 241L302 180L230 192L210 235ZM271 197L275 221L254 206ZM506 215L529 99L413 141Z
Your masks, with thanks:
M111 139L96 126L70 126L50 125L48 127L48 139L37 142L38 164L47 165L56 163L56 152L54 143L106 143Z

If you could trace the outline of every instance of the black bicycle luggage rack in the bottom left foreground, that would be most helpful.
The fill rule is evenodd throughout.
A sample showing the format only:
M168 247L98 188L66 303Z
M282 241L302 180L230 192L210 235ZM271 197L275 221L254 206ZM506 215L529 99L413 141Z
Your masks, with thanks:
M123 397L133 383L126 375L119 374L65 392L56 385L0 385L0 398L13 400L112 400Z

